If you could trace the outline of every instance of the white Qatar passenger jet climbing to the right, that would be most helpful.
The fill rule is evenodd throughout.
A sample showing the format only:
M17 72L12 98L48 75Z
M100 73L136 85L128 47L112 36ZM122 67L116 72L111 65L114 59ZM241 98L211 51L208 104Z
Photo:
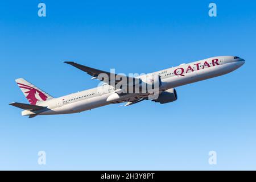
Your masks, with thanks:
M15 81L30 104L13 102L10 105L23 109L22 115L34 118L37 115L80 113L123 102L126 102L124 106L144 100L166 104L177 100L176 87L233 72L240 68L245 60L238 56L216 56L136 77L101 71L72 61L64 63L88 73L92 80L98 79L103 84L54 98L23 78L18 78ZM143 89L143 85L146 85L146 89ZM148 89L148 85L151 85L152 89Z

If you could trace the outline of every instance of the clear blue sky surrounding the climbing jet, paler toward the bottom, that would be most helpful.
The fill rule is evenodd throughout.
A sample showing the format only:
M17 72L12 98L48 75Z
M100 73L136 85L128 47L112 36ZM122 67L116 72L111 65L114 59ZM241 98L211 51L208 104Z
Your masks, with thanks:
M47 16L39 18L38 3ZM210 2L217 17L208 16ZM1 1L0 169L256 169L254 1ZM228 75L177 88L178 100L22 117L23 77L53 97L97 80L63 61L150 73L237 55ZM217 152L217 165L208 152ZM46 165L38 164L46 151Z

